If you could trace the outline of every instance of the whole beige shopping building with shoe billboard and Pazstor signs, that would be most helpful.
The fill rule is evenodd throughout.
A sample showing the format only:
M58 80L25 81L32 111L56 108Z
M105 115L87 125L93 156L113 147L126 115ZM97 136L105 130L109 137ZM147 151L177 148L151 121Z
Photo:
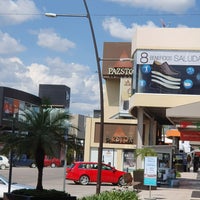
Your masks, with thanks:
M135 149L151 146L159 167L172 167L177 149L164 145L164 127L200 141L199 36L197 28L138 28L131 43L104 43L103 162L132 171L142 167ZM88 118L85 161L97 161L99 134L100 119Z

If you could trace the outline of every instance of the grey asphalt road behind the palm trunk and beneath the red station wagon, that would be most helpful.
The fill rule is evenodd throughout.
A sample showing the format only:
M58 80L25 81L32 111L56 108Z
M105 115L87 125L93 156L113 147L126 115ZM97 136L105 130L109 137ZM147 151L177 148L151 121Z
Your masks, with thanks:
M0 174L9 177L9 170L0 170ZM13 167L12 182L26 184L35 187L37 183L37 168L28 167ZM45 189L56 189L63 191L78 198L95 194L96 184L76 185L72 181L66 180L64 183L64 168L44 168L43 173L43 187ZM101 191L110 191L116 188L112 184L105 184L101 186Z

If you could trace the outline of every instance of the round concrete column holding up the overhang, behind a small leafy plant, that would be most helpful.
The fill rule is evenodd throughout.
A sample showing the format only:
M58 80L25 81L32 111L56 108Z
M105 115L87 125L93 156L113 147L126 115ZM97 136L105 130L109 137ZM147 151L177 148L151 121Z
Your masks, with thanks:
M138 125L137 125L137 148L141 149L142 148L142 138L143 138L143 108L138 107L137 110L138 114L137 114L137 120L138 120ZM137 158L136 160L136 168L140 169L142 168L142 160L140 158L140 156Z

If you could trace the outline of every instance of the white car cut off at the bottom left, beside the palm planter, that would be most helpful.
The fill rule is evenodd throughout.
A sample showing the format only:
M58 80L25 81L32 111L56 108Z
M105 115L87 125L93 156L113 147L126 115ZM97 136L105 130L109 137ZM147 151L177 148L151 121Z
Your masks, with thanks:
M0 175L0 198L3 198L3 194L8 192L8 179L5 178L4 176ZM10 185L10 191L12 192L13 190L19 190L19 189L34 189L34 187L28 186L28 185L22 185L18 183L11 183Z

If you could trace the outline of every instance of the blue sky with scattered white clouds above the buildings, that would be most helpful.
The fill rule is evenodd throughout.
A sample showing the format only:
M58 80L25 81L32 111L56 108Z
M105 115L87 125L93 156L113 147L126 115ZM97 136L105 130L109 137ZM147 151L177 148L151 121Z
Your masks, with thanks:
M137 27L200 26L200 1L87 0L99 56L104 42L131 42ZM38 95L39 84L71 88L71 112L99 109L97 65L82 0L0 0L0 85ZM187 39L187 38L186 38Z

